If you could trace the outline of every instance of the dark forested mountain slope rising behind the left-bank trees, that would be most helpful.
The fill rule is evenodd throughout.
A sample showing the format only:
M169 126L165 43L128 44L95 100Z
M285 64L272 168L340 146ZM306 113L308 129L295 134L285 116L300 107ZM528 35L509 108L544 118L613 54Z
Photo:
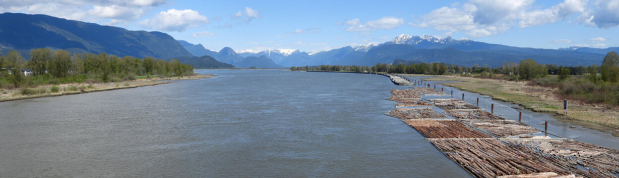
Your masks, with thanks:
M162 32L130 31L49 15L8 12L0 14L0 48L3 52L52 48L158 59L192 56L172 36Z

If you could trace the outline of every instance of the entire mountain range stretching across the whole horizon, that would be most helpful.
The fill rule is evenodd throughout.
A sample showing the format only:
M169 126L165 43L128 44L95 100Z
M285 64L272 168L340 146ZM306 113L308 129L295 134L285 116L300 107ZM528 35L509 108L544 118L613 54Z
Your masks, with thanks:
M192 65L196 68L230 67L210 59L236 67L259 68L322 64L373 66L376 63L393 63L396 59L499 67L505 62L519 62L527 58L534 59L540 64L589 66L601 64L606 53L619 51L619 47L520 48L472 40L454 40L449 36L437 38L429 35L399 35L391 41L378 45L345 46L312 53L298 49L267 49L236 53L228 47L212 51L201 44L194 45L187 41L175 40L162 32L130 31L49 15L0 14L1 53L18 50L27 57L28 51L35 48L65 49L72 53L105 52L117 56L141 58L152 56L167 60L182 58L184 61L194 62Z

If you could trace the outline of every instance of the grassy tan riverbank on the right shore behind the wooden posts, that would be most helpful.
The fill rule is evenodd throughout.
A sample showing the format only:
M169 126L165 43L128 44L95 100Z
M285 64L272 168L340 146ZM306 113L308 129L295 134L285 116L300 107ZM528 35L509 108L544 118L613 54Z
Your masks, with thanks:
M536 112L556 114L573 124L619 135L619 111L603 104L578 103L568 100L567 114L563 113L563 98L555 94L556 88L530 86L527 82L514 82L489 78L441 76L425 78L426 81L457 81L441 83L460 90L491 96Z

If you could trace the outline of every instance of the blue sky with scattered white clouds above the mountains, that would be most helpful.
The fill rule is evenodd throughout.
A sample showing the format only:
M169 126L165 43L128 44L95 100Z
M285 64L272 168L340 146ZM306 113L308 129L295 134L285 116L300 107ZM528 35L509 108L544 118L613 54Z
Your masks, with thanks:
M167 1L0 0L0 12L46 14L165 32L219 51L324 51L397 35L451 36L530 48L619 46L619 0Z

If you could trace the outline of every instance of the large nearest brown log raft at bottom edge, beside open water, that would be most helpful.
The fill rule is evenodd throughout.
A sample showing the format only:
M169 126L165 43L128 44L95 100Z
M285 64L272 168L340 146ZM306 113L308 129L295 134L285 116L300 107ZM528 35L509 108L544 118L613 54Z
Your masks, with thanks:
M475 177L496 177L517 174L571 172L552 164L537 161L526 148L517 149L494 139L431 140L444 154ZM523 151L524 150L524 151Z

